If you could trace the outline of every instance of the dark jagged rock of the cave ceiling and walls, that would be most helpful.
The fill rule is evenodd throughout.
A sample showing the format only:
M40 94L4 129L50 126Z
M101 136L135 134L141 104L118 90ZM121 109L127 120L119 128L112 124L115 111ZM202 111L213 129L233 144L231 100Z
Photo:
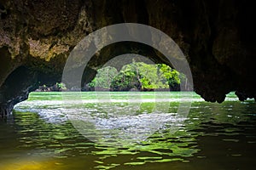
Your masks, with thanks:
M207 101L222 102L230 91L241 100L255 99L253 10L253 2L232 0L0 0L0 115L39 84L60 81L68 54L84 36L123 22L153 26L172 37L189 61L195 92ZM154 50L136 47L171 65ZM90 60L85 81L129 48L134 47L102 49Z

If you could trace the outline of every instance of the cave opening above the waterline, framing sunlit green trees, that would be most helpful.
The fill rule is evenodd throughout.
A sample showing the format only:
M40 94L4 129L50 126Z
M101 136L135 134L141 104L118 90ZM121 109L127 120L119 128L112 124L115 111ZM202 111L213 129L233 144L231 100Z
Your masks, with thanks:
M36 91L193 91L183 73L138 54L119 55L96 72L96 76L80 88L67 88L65 83L56 82L53 86L39 86Z

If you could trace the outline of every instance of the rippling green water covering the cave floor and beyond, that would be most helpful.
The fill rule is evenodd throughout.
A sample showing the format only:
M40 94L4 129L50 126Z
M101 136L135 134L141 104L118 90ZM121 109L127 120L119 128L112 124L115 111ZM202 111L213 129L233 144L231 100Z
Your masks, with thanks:
M0 169L254 169L255 102L183 94L179 117L181 93L32 93L0 122Z

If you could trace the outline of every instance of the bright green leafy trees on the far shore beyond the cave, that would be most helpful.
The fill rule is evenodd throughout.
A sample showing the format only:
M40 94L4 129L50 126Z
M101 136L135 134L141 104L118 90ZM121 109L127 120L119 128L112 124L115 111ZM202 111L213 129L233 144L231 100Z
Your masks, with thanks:
M133 61L129 65L124 65L119 72L110 66L98 70L96 78L88 86L90 88L110 88L113 91L127 91L132 88L141 91L170 88L177 91L184 79L183 74L168 65L148 65Z

